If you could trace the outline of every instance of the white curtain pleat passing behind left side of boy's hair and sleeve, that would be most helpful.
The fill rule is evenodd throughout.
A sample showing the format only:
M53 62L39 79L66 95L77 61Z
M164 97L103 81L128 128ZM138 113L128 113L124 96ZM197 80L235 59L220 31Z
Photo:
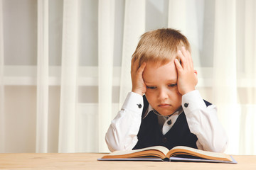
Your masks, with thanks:
M125 1L119 108L122 107L128 92L132 91L131 59L139 37L145 32L145 3L145 0Z

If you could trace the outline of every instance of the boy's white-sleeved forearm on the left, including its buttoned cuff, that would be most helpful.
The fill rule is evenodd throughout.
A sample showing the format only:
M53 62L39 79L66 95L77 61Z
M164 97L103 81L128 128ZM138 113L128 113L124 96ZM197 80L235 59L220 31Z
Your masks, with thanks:
M137 144L137 134L142 119L143 98L129 93L121 111L112 120L105 140L110 151L132 149Z

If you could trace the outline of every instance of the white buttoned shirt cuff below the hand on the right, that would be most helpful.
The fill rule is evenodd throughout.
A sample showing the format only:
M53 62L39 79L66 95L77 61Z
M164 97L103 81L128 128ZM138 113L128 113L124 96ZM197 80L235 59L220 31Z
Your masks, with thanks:
M182 96L181 102L183 111L185 113L191 113L198 108L206 108L206 103L204 103L198 90L190 91Z

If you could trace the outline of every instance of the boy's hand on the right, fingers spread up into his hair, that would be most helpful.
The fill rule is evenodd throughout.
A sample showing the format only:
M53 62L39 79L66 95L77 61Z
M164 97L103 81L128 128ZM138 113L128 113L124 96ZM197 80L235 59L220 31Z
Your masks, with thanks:
M181 63L177 59L174 60L174 63L178 72L178 92L183 95L195 90L198 79L197 72L193 69L191 54L185 47L181 47L181 51L178 50L178 57L180 57Z

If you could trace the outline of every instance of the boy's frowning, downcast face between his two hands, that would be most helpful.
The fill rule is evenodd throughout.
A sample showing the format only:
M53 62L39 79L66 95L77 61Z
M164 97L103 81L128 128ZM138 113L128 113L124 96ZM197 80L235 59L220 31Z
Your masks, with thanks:
M147 62L143 72L146 99L161 115L171 115L181 107L174 61L164 65Z

